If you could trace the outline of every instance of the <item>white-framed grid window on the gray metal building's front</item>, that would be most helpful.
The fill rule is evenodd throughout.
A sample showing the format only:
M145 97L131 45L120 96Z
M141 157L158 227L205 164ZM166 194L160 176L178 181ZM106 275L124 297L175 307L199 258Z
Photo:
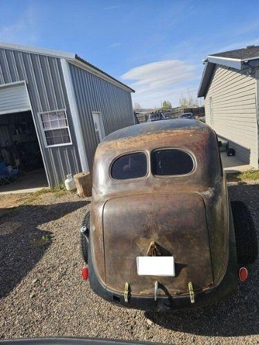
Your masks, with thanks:
M39 113L46 147L72 144L66 110Z

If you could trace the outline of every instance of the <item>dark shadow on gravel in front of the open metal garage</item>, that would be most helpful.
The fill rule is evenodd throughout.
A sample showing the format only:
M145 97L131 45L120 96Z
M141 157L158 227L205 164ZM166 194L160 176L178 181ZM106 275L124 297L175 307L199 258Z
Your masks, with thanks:
M37 227L89 202L23 205L7 210L8 213L0 218L0 298L17 286L51 246L52 233Z

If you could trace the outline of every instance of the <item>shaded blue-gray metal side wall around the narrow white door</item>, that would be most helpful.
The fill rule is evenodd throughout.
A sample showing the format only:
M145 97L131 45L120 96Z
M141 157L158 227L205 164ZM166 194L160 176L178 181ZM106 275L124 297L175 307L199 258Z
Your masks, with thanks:
M84 146L89 167L93 164L97 140L92 112L102 112L105 135L134 124L131 92L69 63L79 112L80 126L84 133Z

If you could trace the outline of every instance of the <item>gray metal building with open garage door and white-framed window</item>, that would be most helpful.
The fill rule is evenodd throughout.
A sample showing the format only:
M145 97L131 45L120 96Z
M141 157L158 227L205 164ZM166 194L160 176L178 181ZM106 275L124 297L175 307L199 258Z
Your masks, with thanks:
M0 43L0 160L49 186L91 170L109 133L134 124L131 88L78 55Z

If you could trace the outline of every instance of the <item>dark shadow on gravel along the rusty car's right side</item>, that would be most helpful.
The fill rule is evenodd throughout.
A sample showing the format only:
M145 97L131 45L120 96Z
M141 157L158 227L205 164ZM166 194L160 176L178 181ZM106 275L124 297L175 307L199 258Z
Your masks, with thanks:
M229 186L231 200L244 201L259 230L259 184ZM259 234L258 234L259 238ZM239 284L236 295L213 306L171 313L145 312L152 322L173 331L195 335L235 337L259 334L259 259L247 266L249 279Z

